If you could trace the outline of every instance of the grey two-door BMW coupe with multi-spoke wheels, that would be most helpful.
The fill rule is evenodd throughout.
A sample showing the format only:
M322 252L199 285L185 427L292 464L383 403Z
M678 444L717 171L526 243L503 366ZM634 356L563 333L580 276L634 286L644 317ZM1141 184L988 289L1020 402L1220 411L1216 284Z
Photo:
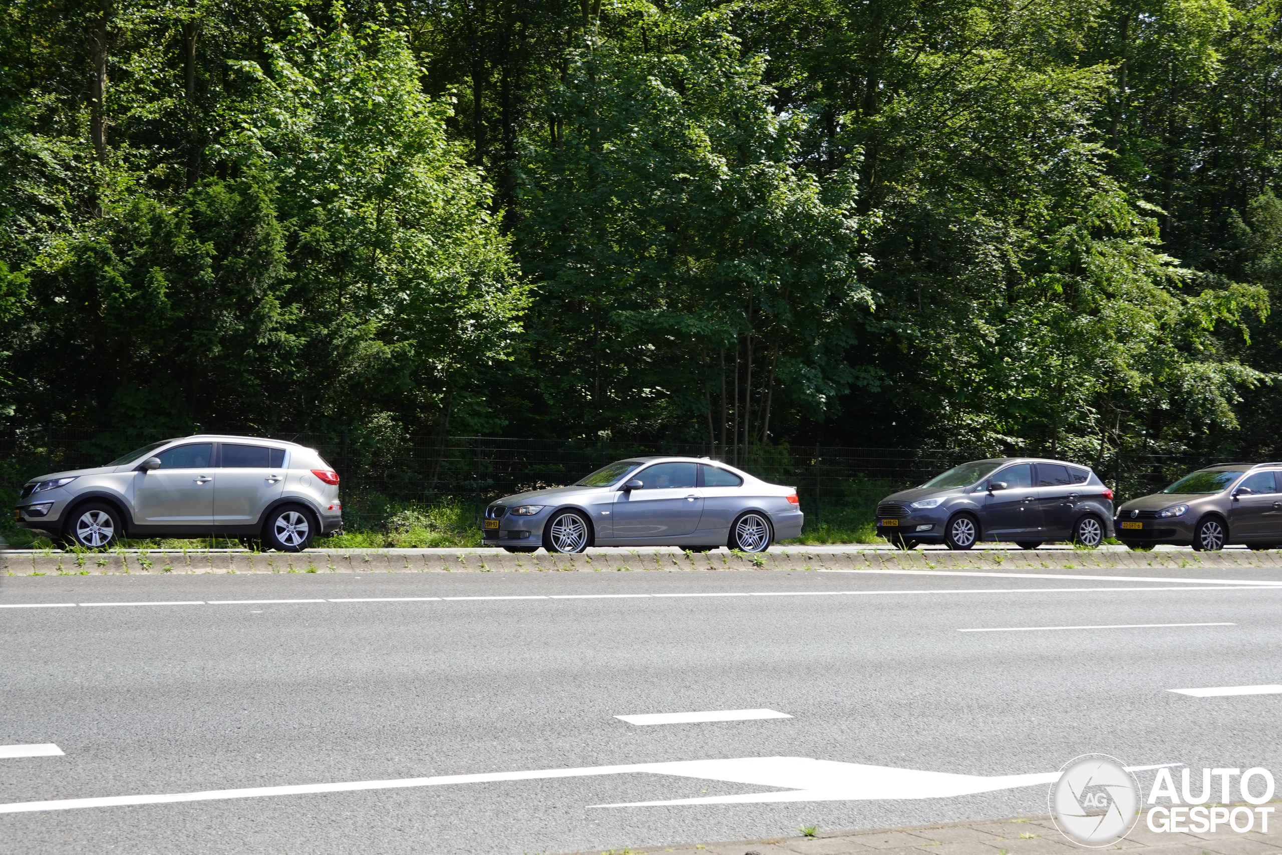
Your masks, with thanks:
M708 458L632 458L568 487L505 496L485 509L485 542L509 552L588 546L729 546L764 552L801 533L794 487Z

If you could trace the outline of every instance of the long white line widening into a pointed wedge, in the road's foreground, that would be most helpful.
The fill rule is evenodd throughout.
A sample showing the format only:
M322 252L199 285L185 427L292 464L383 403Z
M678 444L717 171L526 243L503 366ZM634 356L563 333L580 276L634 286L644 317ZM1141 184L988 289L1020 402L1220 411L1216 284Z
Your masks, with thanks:
M1174 764L1163 764L1174 765ZM1158 767L1142 767L1158 768ZM137 796L105 796L97 799L53 799L0 804L0 814L37 810L76 810L82 808L118 808L124 805L160 805L182 801L214 801L223 799L259 799L264 796L297 796L315 792L353 792L359 790L399 790L405 787L437 787L455 783L490 783L499 781L546 781L591 776L646 773L700 778L726 783L749 783L777 787L783 792L754 792L713 799L679 799L597 808L629 808L644 805L745 804L763 801L838 801L882 799L947 799L977 792L1014 790L1045 784L1059 778L1059 772L1033 774L970 776L920 769L896 769L860 763L815 760L813 758L733 758L726 760L678 760L674 763L633 763L628 765L582 767L573 769L538 769L533 772L487 772L482 774L433 776L428 778L394 778L388 781L349 781L337 783L304 783L283 787L246 787L241 790L205 790L200 792L168 792Z

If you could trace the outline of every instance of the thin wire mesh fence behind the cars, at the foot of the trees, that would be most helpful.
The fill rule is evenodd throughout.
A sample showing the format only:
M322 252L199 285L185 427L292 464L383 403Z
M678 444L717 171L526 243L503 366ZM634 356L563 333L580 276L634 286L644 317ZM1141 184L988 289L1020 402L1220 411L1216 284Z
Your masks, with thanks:
M138 431L69 428L0 435L0 491L8 500L33 476L101 465L163 438ZM808 529L851 526L870 520L877 501L888 492L922 483L965 460L991 456L962 449L770 446L754 450L746 460L735 460L706 445L670 442L369 433L282 433L273 438L317 449L338 472L349 529L378 529L397 508L442 499L479 513L495 497L570 483L606 463L647 454L722 459L768 481L795 486ZM1126 450L1110 450L1099 460L1074 460L1092 467L1117 491L1118 501L1154 492L1191 469L1224 461L1214 455Z

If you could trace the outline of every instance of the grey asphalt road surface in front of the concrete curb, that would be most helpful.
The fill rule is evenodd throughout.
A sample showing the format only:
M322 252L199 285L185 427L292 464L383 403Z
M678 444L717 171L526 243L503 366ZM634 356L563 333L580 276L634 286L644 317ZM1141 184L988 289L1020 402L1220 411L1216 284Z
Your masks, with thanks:
M1217 578L1269 578L1253 573ZM774 596L726 596L745 594ZM332 601L376 597L536 599ZM282 599L320 601L217 602ZM1045 786L594 806L787 788L645 770L5 813L659 761L799 756L1004 776L1105 752L1282 773L1282 695L1168 691L1282 683L1282 585L803 572L0 579L0 604L159 601L192 605L0 609L0 746L64 751L0 759L0 851L567 852L1046 813ZM959 632L1214 623L1232 626ZM614 718L741 709L792 718Z

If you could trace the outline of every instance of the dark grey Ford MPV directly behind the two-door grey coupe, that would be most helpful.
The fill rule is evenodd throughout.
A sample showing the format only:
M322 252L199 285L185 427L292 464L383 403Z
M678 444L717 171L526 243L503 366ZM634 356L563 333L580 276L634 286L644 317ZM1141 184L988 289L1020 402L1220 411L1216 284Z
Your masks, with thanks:
M877 505L877 533L913 549L1014 541L1037 549L1113 537L1113 491L1086 467L1037 458L995 458L954 467Z

